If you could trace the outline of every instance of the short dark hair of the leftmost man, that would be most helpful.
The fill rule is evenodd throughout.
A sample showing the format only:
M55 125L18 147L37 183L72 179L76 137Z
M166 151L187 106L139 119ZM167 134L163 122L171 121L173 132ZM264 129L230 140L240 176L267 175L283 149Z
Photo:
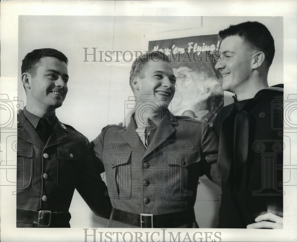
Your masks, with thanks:
M67 57L59 50L51 48L37 49L28 53L23 59L21 67L22 74L24 72L29 72L32 76L34 76L36 71L36 64L42 57L54 57L57 58L59 61L64 61L66 65L68 64Z

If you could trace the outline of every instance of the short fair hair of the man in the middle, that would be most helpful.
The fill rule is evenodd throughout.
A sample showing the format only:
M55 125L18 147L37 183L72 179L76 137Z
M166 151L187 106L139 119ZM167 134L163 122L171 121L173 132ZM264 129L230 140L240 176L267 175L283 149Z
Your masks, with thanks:
M146 51L145 54L139 56L136 58L136 60L133 62L131 71L130 71L130 87L133 90L131 80L133 77L140 77L144 78L144 67L146 66L146 63L149 61L157 62L157 61L163 61L163 62L170 62L167 55L165 55L163 52L154 50L154 51Z

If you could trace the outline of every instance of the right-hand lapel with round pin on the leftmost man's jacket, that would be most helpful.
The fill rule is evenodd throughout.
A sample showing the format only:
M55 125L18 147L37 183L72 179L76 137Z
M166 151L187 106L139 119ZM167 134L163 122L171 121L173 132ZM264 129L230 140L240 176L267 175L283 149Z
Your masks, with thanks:
M62 128L65 127L65 128ZM55 125L53 127L52 134L48 138L48 142L45 144L45 148L48 148L50 146L60 144L62 142L65 142L67 140L71 139L71 136L69 134L69 128L63 125L59 119L56 117Z

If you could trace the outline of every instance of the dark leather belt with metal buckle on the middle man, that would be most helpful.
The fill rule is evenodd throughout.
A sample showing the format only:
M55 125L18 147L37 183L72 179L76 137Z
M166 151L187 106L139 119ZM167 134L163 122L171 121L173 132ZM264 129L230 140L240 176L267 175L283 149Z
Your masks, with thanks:
M141 228L176 228L195 221L194 208L171 214L134 214L112 208L110 218Z

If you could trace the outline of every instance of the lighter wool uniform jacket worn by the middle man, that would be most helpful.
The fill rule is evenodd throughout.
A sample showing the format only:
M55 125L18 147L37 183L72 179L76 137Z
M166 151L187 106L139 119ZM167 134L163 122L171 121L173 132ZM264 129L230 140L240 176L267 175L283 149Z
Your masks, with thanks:
M108 125L91 142L104 164L112 206L153 215L193 208L199 176L217 159L217 138L208 124L168 112L148 149L135 129L132 115L127 128ZM108 227L133 226L110 219Z

